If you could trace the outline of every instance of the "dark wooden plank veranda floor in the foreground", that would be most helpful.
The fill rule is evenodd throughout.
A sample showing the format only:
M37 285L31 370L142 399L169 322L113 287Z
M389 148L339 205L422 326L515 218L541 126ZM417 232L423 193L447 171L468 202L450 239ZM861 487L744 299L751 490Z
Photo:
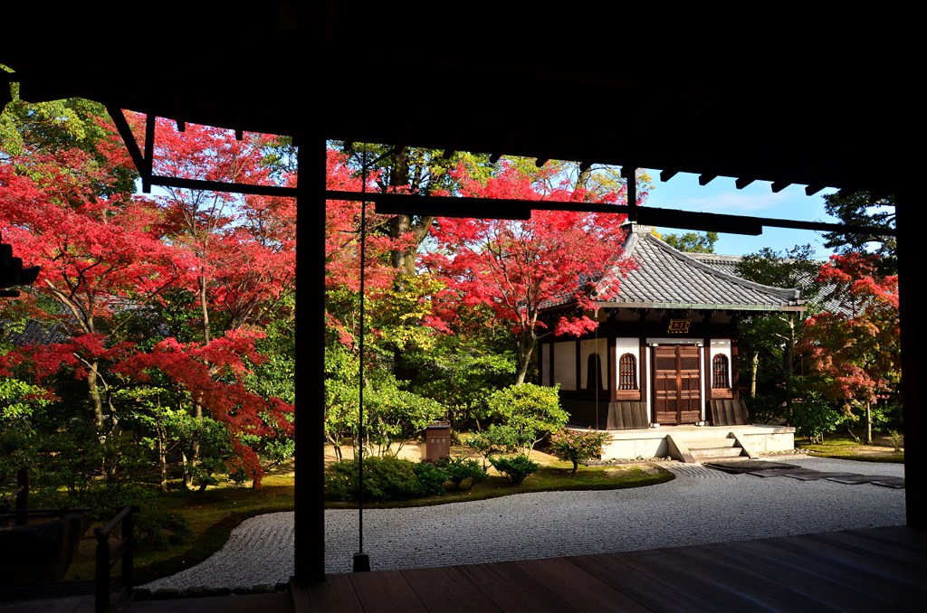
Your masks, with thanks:
M223 596L130 603L115 610L872 613L922 611L925 603L927 533L894 527L619 554L329 575L319 584L294 586L292 597ZM0 607L0 613L12 610L74 609ZM80 610L91 611L92 604Z

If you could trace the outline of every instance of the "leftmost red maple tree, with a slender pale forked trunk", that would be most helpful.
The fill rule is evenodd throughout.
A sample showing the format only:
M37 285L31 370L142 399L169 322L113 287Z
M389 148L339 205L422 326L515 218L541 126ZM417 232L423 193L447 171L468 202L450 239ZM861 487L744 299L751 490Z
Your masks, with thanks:
M104 346L118 344L133 316L185 282L188 261L152 230L158 218L150 200L102 198L85 189L106 184L107 169L96 168L82 151L32 152L25 167L17 162L0 166L0 231L16 242L24 261L41 266L35 288L62 308L36 307L29 294L22 302L30 317L73 338L37 348L42 357L35 357L36 368L47 370L56 359L79 364L99 426L105 408L100 387L108 385L100 365Z

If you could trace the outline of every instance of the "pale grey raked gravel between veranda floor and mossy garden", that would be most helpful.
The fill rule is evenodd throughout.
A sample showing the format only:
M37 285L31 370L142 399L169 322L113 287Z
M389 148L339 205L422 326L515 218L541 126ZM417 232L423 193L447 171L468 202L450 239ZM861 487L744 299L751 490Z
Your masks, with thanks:
M904 476L900 464L770 458L822 471ZM608 492L516 494L438 507L366 509L371 567L410 569L738 541L905 523L905 490L732 475L667 462L671 482ZM325 511L325 571L349 572L357 510ZM293 574L293 513L244 521L222 550L144 587L235 587Z

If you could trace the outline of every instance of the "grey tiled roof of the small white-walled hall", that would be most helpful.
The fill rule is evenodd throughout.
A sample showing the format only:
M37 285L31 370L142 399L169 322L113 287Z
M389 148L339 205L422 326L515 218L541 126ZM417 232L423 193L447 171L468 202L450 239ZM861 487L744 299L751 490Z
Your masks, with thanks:
M803 310L798 288L779 288L745 281L723 269L683 254L656 238L650 226L629 226L624 257L638 267L619 280L618 294L603 307L729 308L738 310ZM716 256L723 260L726 256ZM596 288L614 279L608 273Z

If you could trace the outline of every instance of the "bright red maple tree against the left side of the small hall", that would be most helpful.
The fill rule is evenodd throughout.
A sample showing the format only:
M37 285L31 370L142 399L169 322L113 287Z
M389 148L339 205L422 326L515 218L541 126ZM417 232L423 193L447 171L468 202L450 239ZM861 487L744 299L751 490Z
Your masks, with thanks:
M543 210L543 201L587 202L589 193L565 184L541 191L537 178L513 167L503 167L496 177L481 183L461 167L456 171L465 196L517 198L538 202L531 219L438 218L432 228L434 248L421 264L442 279L447 289L435 299L441 321L455 317L460 307L485 305L508 321L516 335L516 382L525 380L531 354L539 338L548 334L590 332L597 323L584 311L593 308L590 283L609 269L611 287L599 287L598 299L617 291L622 270L633 266L623 261L622 222L615 213ZM616 204L622 194L607 194L593 201ZM573 317L561 317L552 328L540 319L541 309L552 303L570 302Z

